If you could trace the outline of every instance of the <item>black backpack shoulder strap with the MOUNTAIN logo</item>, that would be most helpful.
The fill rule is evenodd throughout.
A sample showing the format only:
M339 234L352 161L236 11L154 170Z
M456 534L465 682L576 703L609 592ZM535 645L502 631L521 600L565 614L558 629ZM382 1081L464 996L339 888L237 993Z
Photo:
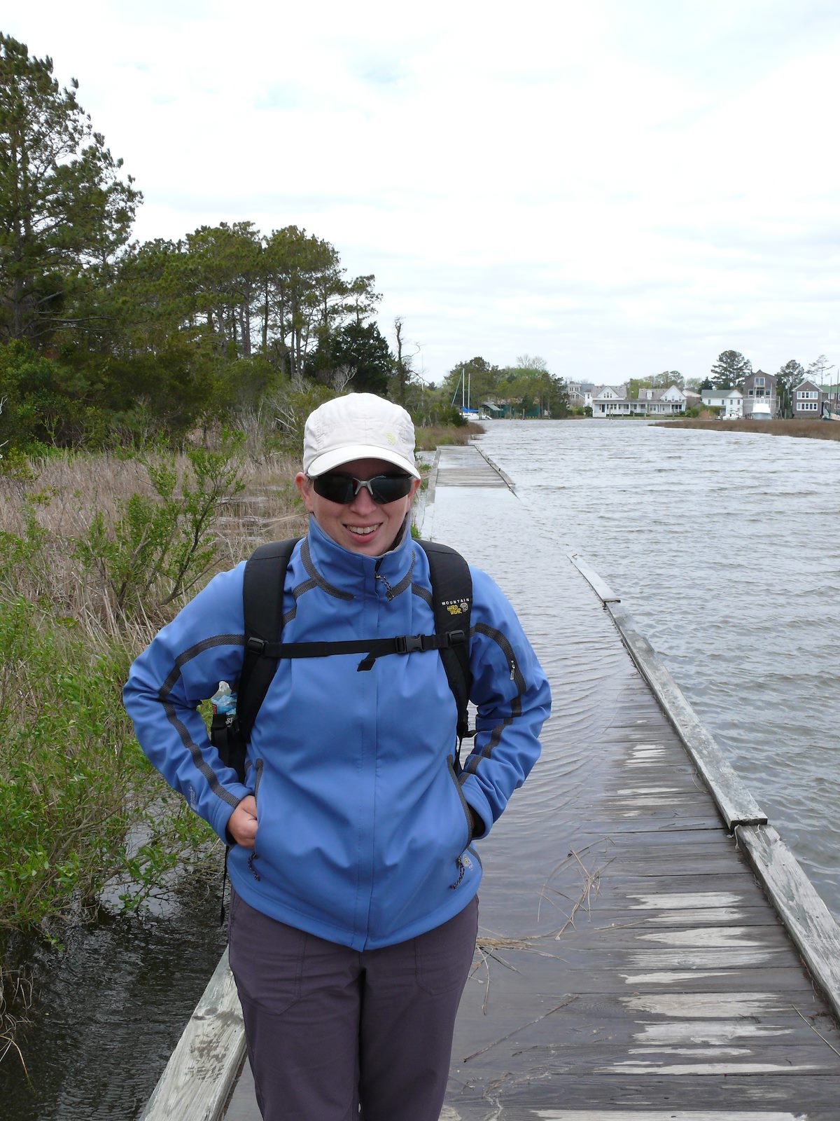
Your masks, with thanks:
M429 576L431 578L432 610L435 612L435 632L445 634L451 631L464 631L466 642L456 642L442 647L440 659L444 663L449 688L458 707L458 742L468 734L469 719L467 702L473 686L473 675L469 670L469 615L473 609L473 577L469 565L454 548L439 541L418 541L429 558Z

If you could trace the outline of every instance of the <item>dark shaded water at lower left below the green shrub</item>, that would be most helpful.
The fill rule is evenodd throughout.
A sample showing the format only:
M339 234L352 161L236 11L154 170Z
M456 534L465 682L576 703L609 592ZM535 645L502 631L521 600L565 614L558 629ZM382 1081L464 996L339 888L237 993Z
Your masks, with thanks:
M32 1027L0 1064L4 1121L139 1117L224 949L218 876L181 881L165 914L71 930L36 951Z

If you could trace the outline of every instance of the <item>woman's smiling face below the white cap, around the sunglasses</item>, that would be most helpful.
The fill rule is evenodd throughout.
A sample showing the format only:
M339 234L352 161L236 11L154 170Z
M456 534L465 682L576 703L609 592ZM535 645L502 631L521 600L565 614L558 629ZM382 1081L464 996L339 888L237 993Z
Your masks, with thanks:
M334 470L356 479L372 479L399 471L399 467L385 460L352 460ZM361 487L353 501L344 506L316 494L311 480L302 471L298 472L295 482L307 510L328 537L352 553L371 557L381 556L393 547L420 487L420 480L413 479L405 498L382 506L373 501L366 487Z

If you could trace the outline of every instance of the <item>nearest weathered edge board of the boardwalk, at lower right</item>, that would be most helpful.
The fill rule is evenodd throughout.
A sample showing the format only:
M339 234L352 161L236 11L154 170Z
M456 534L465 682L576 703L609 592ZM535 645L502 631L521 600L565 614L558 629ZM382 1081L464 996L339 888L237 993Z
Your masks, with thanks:
M743 826L738 840L791 937L840 1017L840 929L773 826Z

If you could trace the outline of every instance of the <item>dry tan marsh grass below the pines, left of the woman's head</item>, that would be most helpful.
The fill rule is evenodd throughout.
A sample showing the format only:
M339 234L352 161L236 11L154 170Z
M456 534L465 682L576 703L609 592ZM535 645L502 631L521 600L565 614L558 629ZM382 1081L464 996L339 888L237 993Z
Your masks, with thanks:
M0 591L139 649L215 572L305 527L290 457L216 454L198 476L166 453L66 453L0 476Z

